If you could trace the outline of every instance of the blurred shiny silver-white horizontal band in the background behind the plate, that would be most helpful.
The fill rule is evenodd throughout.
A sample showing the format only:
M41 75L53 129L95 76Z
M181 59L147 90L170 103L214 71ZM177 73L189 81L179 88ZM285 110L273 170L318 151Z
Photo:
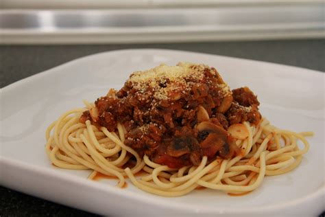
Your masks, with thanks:
M1 10L2 44L324 38L324 4L114 10Z

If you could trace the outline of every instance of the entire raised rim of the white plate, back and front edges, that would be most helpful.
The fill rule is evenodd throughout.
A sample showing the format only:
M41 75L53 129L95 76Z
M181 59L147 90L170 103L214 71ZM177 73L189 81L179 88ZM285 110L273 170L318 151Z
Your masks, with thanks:
M154 53L158 51L158 54L160 52L173 52L173 53L187 53L187 54L199 54L199 55L203 55L203 56L211 56L211 57L221 57L221 58L228 58L228 59L233 59L233 60L245 60L245 61L249 61L249 62L258 62L259 64L268 64L268 65L276 65L278 67L289 67L287 69L293 70L293 69L303 69L302 71L299 71L299 73L315 73L315 76L320 76L322 75L323 78L325 78L324 73L322 71L315 71L313 69L305 69L305 68L301 68L301 67L294 67L294 66L288 66L288 65L281 65L278 63L273 63L273 62L263 62L260 60L249 60L249 59L245 59L245 58L234 58L234 57L230 57L230 56L219 56L219 55L215 55L215 54L204 54L204 53L200 53L200 52L188 52L188 51L181 51L181 50L173 50L173 49L118 49L118 50L114 50L114 51L109 51L109 52L100 52L97 54L91 54L88 56L84 56L81 58L77 58L74 60L71 60L69 62L65 62L61 65L58 65L56 67L53 67L51 69L47 69L43 72L40 73L36 73L33 76L28 76L27 78L23 78L22 80L18 80L16 82L13 82L12 84L8 84L7 86L1 88L1 95L4 92L8 92L8 91L12 91L13 89L15 89L16 87L19 87L19 85L24 84L26 82L31 82L32 80L41 78L42 76L47 76L51 73L56 73L57 71L60 71L60 69L64 68L64 67L70 67L71 65L74 65L77 62L80 62L80 60L86 60L88 58L96 58L97 56L101 56L101 55L106 55L106 54L112 54L112 53L123 53L123 52L138 52L141 51L143 53L145 52L149 52L150 53ZM2 122L2 121L0 121ZM2 139L1 139L2 140ZM16 161L16 162L15 162ZM4 157L2 155L2 153L0 152L0 165L2 168L2 165L4 164L11 164L13 167L16 168L27 168L28 170L34 170L34 171L38 171L38 174L47 174L49 176L53 176L56 177L56 179L64 179L64 181L67 182L75 182L77 181L78 183L81 183L82 185L85 186L91 186L93 185L93 183L90 185L87 182L85 182L85 180L80 179L80 177L77 176L73 176L72 174L67 174L67 179L65 178L65 175L63 176L58 176L59 172L56 170L49 170L49 168L43 168L40 167L38 165L33 165L31 163L25 163L25 165L23 164L23 161L18 161L16 159L10 159L8 157ZM5 168L2 168L1 174L5 174ZM7 172L8 173L8 172ZM68 179L69 178L69 179ZM1 183L3 183L3 178L1 178ZM119 194L121 196L124 196L125 198L129 198L132 200L136 200L139 199L139 195L136 195L136 193L134 192L130 192L130 193L123 193L123 191L115 191L115 187L112 185L108 185L109 187L107 187L107 185L104 185L103 183L99 183L100 185L98 185L97 183L95 183L95 187L99 187L101 185L106 186L106 192L110 193L110 194ZM5 185L6 186L6 185ZM8 187L10 187L9 185L7 185ZM28 194L33 194L32 192L28 192ZM200 209L200 212L198 212L198 214L216 214L216 213L222 213L222 214L256 214L256 213L263 213L263 212L274 212L274 211L279 211L281 209L288 209L289 207L293 207L293 206L297 206L300 204L304 204L304 203L310 203L311 201L318 201L320 200L320 198L324 197L325 195L325 185L323 182L323 185L319 188L317 188L317 190L315 190L314 192L311 192L310 194L306 194L300 198L296 198L293 201L285 201L285 203L275 203L273 205L263 205L263 206L258 206L258 207L249 207L249 208L243 208L241 207L240 209L234 209L234 207L230 207L230 208L224 208L224 209L220 209L220 207L206 207L203 206ZM147 198L147 199L146 199ZM165 198L165 197L161 197L161 198ZM49 198L46 198L47 200L50 200ZM160 198L158 198L158 200L156 199L152 199L146 196L146 194L141 195L141 201L145 200L145 202L147 204L154 204L154 205L158 205L158 203L163 200ZM175 209L178 211L185 211L188 212L189 210L192 211L196 211L197 209L195 207L191 207L191 205L186 205L184 203L182 203L181 205L179 203L176 203L176 205L174 204L170 204L170 203L165 203L162 207L167 207L168 209Z

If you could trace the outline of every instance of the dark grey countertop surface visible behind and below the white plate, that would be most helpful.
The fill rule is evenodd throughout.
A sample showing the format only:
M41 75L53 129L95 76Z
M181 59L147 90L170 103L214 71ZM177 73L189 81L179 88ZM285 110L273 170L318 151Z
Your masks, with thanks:
M321 39L141 45L5 45L0 46L0 87L75 58L130 48L179 49L325 71L325 40ZM96 216L5 187L0 187L0 195L0 216ZM320 216L325 216L325 213Z

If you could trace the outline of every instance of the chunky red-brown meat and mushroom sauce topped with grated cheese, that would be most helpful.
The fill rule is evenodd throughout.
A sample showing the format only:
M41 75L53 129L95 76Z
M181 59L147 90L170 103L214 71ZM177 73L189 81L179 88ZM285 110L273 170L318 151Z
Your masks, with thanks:
M217 70L180 62L131 74L80 117L109 131L123 124L125 145L169 168L198 165L203 156L240 154L228 133L232 124L258 124L259 102L248 87L230 90Z

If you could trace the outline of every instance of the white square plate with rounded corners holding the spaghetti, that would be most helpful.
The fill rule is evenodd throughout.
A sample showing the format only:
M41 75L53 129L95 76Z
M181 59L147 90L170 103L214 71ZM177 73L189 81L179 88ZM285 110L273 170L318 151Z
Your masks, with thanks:
M161 62L204 63L215 67L232 89L248 86L261 113L279 128L311 130L311 148L301 165L267 176L251 194L228 196L195 190L164 198L115 180L89 181L88 171L63 170L45 154L45 130L69 109L119 89L132 71ZM324 209L324 73L266 62L163 49L128 49L73 60L1 90L1 185L49 201L103 215L167 214L316 216Z

